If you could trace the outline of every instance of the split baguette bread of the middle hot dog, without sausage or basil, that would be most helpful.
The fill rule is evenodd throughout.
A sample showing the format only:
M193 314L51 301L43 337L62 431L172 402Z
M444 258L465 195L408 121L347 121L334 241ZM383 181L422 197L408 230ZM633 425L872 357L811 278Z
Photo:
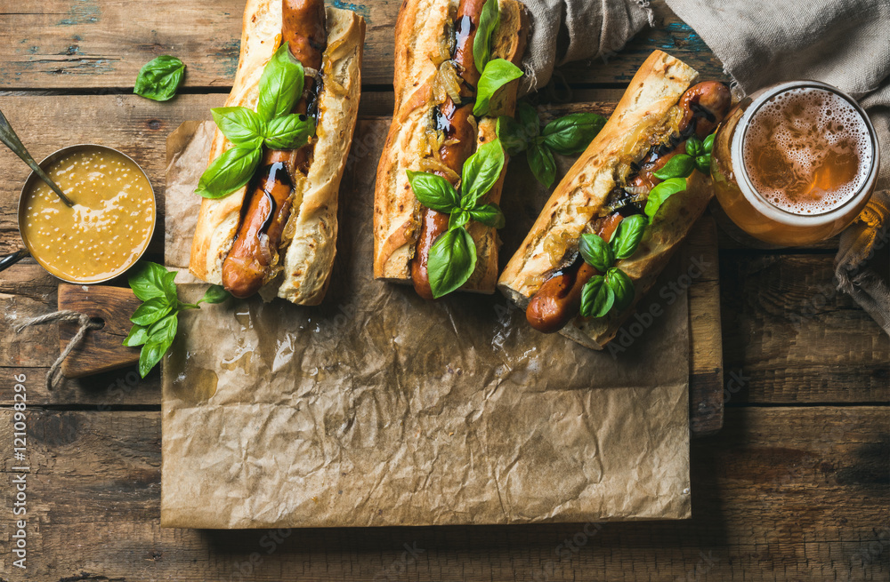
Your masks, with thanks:
M492 43L492 58L519 62L525 52L528 20L516 0L499 0L501 22ZM449 18L448 0L406 0L395 32L395 108L383 155L377 165L374 195L374 276L397 283L411 280L421 205L411 191L407 170L419 170L431 103L430 87L436 68L430 56L438 52ZM479 119L477 147L496 139L497 118L512 116L519 82L507 84L492 100L490 116ZM505 169L506 172L506 169ZM504 174L486 197L498 203ZM473 223L468 228L476 243L476 270L461 287L490 293L498 279L498 235L491 227Z

